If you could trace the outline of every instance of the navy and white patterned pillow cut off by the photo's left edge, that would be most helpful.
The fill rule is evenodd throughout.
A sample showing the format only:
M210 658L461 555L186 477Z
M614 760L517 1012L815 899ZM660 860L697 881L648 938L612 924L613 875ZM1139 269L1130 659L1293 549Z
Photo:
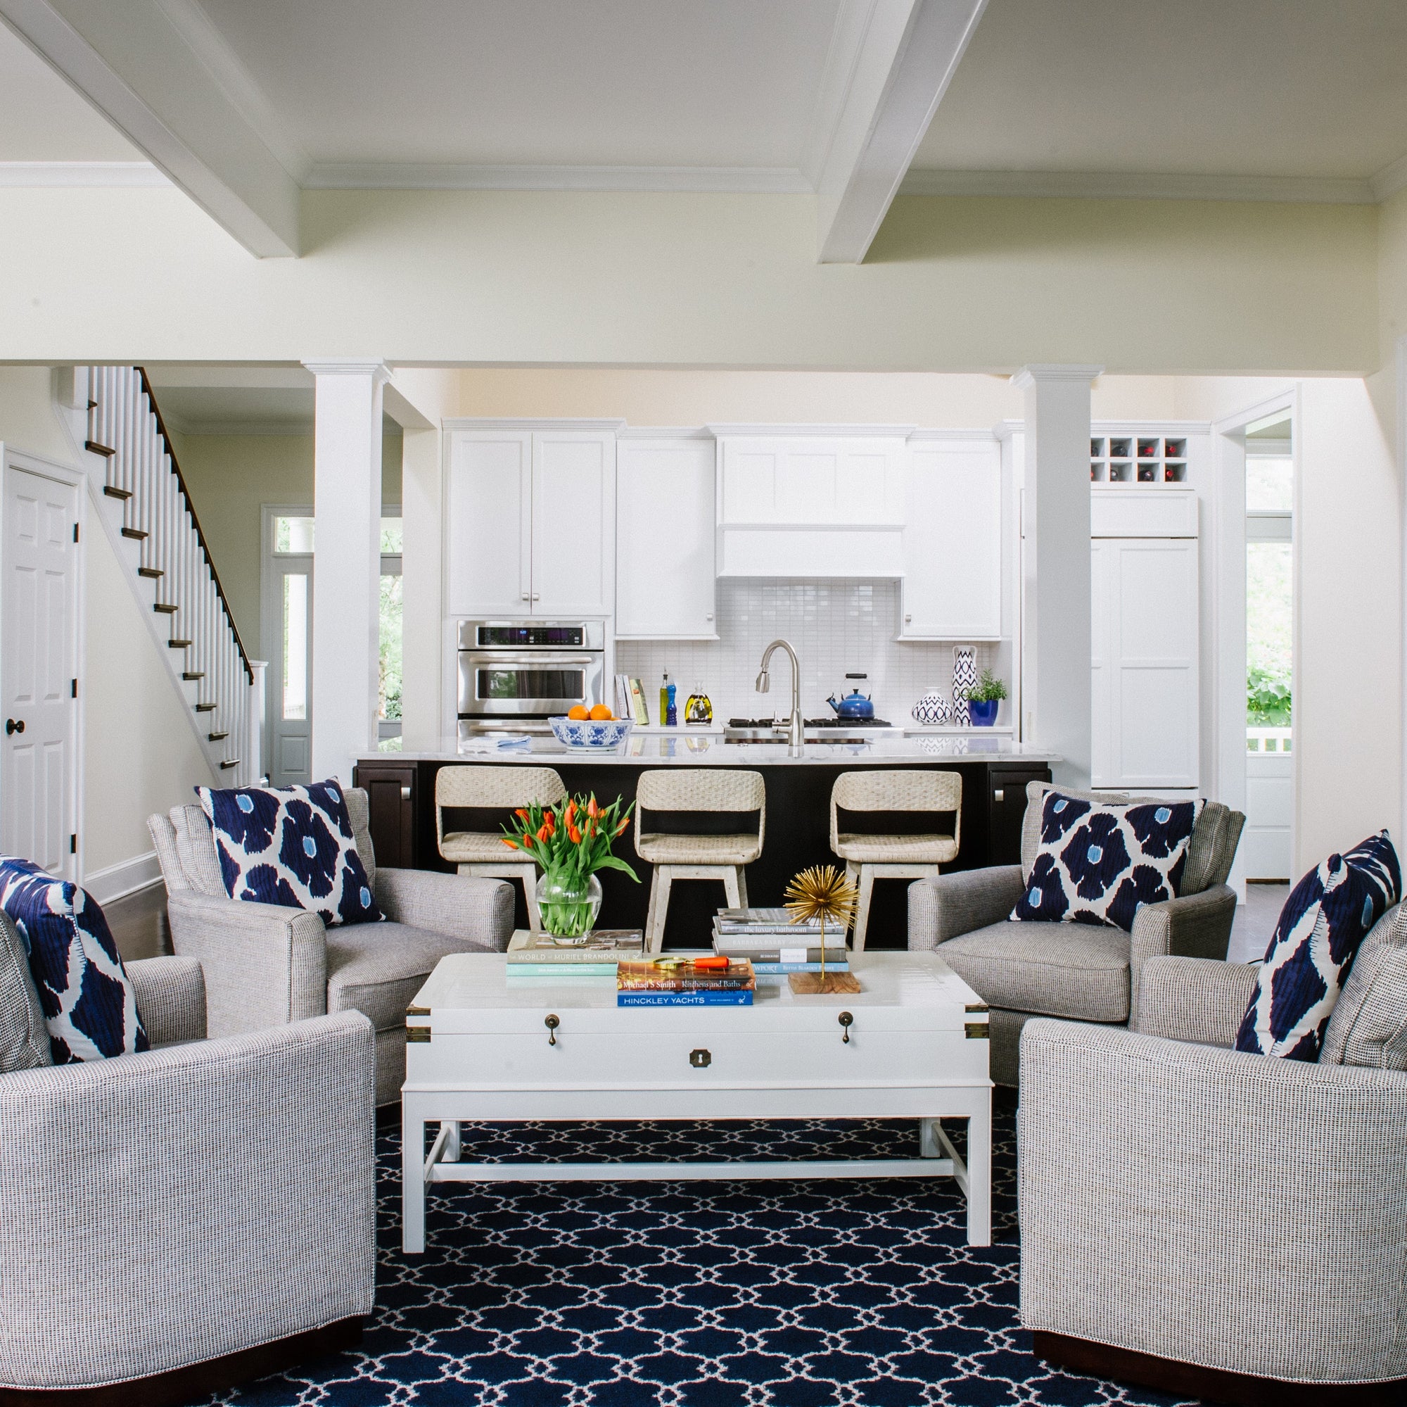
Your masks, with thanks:
M86 891L4 855L0 908L30 958L55 1065L151 1050L132 979Z

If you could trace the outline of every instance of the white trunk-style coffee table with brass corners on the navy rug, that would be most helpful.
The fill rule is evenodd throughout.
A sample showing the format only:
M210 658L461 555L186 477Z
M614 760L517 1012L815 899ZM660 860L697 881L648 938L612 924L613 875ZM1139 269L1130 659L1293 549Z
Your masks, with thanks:
M516 978L442 958L407 1014L402 1244L425 1249L435 1182L953 1178L992 1240L988 1010L934 953L855 954L854 996L760 978L753 1006L618 1007L613 978ZM460 1120L916 1119L919 1158L471 1162ZM938 1126L968 1121L967 1158ZM439 1123L429 1157L425 1126Z

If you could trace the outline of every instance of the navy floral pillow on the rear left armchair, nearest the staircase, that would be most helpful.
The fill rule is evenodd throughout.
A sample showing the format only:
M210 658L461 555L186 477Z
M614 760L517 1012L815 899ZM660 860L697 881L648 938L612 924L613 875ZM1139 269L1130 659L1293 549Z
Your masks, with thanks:
M231 899L311 909L332 927L384 915L356 853L336 781L311 787L197 787Z

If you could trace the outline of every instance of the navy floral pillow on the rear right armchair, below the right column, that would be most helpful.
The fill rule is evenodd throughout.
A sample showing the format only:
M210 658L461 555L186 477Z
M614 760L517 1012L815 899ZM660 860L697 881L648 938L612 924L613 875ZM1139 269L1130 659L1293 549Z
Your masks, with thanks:
M1192 827L1204 805L1197 798L1116 806L1047 792L1040 850L1012 917L1131 930L1145 903L1182 892Z

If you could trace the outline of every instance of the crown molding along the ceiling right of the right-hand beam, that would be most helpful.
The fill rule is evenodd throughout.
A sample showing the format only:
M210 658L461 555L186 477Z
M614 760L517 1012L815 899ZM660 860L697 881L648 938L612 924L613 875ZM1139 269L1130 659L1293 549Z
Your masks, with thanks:
M1176 172L954 172L910 170L900 196L1010 196L1064 200L1262 200L1292 204L1373 205L1377 180L1403 166L1384 167L1372 180L1330 176L1200 176ZM1393 187L1397 189L1397 187Z

